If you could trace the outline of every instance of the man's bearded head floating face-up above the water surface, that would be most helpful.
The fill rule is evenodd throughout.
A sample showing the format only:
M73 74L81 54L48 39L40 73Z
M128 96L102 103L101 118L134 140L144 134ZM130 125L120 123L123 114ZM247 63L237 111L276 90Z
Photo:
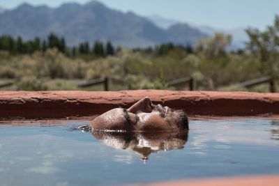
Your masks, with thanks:
M152 104L143 98L128 109L112 109L95 118L90 126L93 130L125 131L178 131L188 130L188 117L181 110Z

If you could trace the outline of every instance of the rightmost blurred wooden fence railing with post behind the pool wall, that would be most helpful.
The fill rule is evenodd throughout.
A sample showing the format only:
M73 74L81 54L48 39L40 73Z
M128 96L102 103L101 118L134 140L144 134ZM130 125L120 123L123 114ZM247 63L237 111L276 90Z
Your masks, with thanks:
M250 88L252 86L256 86L259 84L266 84L266 83L269 84L269 91L271 93L275 93L276 86L275 86L274 80L271 77L260 77L257 79L252 79L247 82L242 82L240 85L243 87L246 87L246 88Z

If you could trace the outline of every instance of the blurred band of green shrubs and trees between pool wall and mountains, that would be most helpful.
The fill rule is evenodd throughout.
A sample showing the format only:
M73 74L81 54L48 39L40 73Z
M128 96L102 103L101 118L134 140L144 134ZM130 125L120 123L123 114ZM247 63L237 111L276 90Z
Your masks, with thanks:
M269 76L278 87L279 17L266 30L247 29L250 40L245 49L229 51L232 36L216 33L195 46L165 43L157 47L125 49L112 43L82 42L67 47L54 34L47 40L23 41L0 37L1 90L88 90L101 91L103 85L79 88L91 79L109 77L111 91L123 89L187 89L170 86L169 81L193 77L195 90L268 92L269 85L244 88L239 84ZM278 91L278 88L276 89Z

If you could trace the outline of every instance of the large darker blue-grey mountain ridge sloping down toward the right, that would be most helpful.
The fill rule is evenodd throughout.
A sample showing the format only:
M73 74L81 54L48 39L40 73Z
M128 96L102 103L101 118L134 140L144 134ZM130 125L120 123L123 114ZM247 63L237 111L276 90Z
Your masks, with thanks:
M124 47L146 47L163 42L193 45L208 35L188 24L162 29L135 13L122 13L103 3L84 5L64 3L59 8L31 6L23 3L0 15L0 35L22 36L25 40L46 38L51 32L66 39L68 45L81 41L110 40Z

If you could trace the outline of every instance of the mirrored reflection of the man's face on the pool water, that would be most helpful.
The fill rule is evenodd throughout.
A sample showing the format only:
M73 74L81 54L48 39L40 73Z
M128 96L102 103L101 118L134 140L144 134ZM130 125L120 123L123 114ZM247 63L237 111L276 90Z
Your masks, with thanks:
M181 149L188 139L188 131L183 132L92 132L93 137L105 145L117 149L131 149L144 160L151 153Z

